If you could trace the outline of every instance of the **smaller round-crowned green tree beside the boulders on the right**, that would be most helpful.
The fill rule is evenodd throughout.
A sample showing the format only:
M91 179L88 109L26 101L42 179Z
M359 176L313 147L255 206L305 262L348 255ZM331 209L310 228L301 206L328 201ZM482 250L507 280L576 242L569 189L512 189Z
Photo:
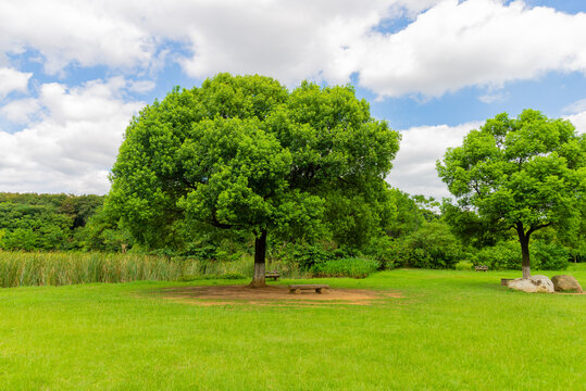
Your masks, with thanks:
M439 177L462 211L494 230L519 237L523 277L531 276L529 238L553 226L578 235L586 188L586 139L569 121L525 110L471 130L462 147L437 162Z

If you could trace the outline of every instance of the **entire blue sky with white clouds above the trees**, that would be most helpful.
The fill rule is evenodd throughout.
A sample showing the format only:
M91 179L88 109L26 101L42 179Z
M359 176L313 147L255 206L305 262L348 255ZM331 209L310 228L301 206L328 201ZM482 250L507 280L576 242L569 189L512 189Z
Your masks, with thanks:
M586 2L0 0L0 191L108 192L133 114L219 72L351 83L402 134L388 181L524 108L586 130Z

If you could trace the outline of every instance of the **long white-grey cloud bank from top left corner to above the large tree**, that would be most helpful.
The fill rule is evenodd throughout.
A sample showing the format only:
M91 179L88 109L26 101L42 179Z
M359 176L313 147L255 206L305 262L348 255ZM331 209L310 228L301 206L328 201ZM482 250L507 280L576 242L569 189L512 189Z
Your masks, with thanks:
M171 41L192 51L172 58L195 77L227 71L346 83L356 72L348 49L359 38L385 18L414 16L439 1L1 2L0 52L35 49L50 74L68 64L145 71L160 67Z

